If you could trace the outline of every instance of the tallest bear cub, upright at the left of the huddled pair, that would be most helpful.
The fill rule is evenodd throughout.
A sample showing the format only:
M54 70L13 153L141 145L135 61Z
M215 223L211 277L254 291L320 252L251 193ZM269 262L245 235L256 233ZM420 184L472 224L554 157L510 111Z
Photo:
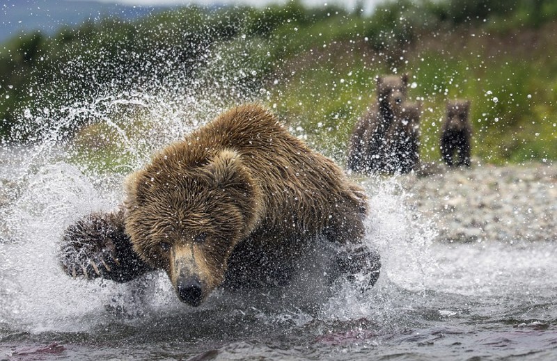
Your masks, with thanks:
M390 172L385 161L386 136L393 122L400 120L408 76L377 77L377 104L361 117L352 131L347 168L359 173Z

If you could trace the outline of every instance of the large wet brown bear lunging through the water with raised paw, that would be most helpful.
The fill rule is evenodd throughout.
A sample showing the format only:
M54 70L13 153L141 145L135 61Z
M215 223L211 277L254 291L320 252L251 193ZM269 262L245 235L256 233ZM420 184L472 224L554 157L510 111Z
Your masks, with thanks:
M61 264L76 277L127 282L164 270L183 302L220 286L284 284L318 240L340 245L340 273L379 277L361 240L366 196L260 106L237 106L168 145L126 184L118 211L91 214L63 235Z

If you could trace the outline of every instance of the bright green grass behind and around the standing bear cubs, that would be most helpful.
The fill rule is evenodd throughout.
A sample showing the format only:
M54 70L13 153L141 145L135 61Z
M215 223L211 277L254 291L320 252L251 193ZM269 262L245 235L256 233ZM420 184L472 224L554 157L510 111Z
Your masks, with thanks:
M556 160L557 61L547 56L548 48L509 49L505 35L471 33L423 35L398 65L398 73L408 72L415 82L409 98L423 102L421 158L439 160L446 101L465 98L471 100L474 158L496 164ZM552 37L539 35L540 42ZM440 47L444 42L449 45ZM315 147L343 161L350 129L375 102L374 77L391 74L394 65L350 40L335 46L334 55L315 48L292 60L298 70L275 88L269 104L292 128L304 129Z

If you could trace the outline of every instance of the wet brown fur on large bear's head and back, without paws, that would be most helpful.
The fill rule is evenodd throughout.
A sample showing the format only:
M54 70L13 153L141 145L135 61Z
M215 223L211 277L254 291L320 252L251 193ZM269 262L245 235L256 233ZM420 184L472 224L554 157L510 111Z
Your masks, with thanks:
M166 147L127 182L126 230L153 267L196 275L203 297L221 284L237 243L258 252L285 248L329 232L358 241L363 191L336 164L290 135L256 105L232 109L184 141ZM329 217L331 216L331 217ZM203 243L194 241L197 234ZM271 239L268 234L278 234ZM159 243L171 243L178 265ZM249 259L249 255L246 255Z

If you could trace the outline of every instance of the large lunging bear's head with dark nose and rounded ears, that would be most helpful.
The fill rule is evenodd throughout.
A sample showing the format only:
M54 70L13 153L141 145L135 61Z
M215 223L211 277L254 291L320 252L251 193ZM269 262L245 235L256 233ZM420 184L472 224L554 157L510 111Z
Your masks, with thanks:
M192 159L185 146L167 147L127 180L125 227L141 259L164 269L180 300L197 306L253 229L260 188L236 152Z

